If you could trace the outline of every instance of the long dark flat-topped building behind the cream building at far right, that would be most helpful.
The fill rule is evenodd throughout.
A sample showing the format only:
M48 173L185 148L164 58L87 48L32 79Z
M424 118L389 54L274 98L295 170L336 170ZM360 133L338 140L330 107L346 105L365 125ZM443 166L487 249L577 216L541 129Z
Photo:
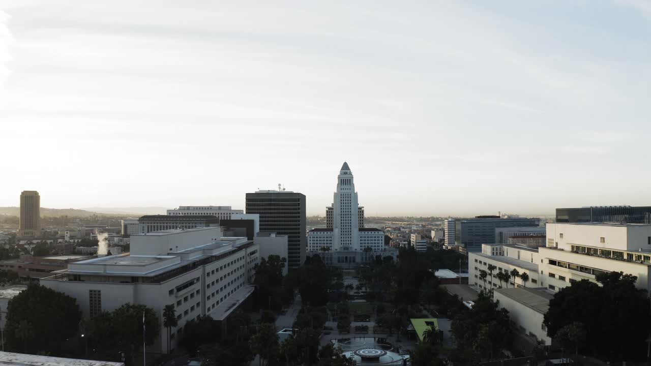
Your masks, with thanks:
M651 223L650 206L557 208L556 222Z

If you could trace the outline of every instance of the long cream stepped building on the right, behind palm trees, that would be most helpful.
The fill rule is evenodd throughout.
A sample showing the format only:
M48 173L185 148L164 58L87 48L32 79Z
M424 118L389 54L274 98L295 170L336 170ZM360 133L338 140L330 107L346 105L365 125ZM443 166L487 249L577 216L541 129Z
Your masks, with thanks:
M635 287L651 290L651 225L615 223L547 223L547 245L527 247L484 244L480 253L469 253L470 284L497 289L497 272L517 269L529 282L511 278L509 285L558 290L575 281L596 282L599 274L624 272L637 277ZM496 267L492 276L489 265ZM481 272L489 273L486 282Z

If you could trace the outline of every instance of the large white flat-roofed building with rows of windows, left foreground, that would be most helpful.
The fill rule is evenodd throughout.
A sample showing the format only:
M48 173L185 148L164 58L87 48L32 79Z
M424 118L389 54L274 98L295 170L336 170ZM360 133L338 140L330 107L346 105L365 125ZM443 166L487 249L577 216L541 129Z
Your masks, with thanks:
M131 255L110 255L68 264L41 285L76 298L84 317L124 303L151 307L161 329L152 351L166 352L163 308L173 305L176 348L186 322L200 315L224 320L253 293L259 246L223 238L219 227L158 231L131 237Z

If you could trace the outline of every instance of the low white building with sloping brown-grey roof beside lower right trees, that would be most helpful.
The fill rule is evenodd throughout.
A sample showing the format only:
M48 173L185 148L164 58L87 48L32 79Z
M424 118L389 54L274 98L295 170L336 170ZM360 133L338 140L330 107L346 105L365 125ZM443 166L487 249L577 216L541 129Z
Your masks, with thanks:
M549 309L549 300L553 297L553 291L542 287L497 289L493 293L493 299L499 301L499 307L508 310L508 316L516 324L516 330L543 346L551 346L551 338L547 336L543 320Z

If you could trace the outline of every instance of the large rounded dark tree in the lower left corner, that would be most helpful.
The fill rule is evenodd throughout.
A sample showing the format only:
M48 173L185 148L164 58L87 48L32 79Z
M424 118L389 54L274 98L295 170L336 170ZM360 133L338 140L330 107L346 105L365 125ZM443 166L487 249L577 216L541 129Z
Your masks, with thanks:
M47 287L30 284L9 300L5 324L8 349L23 352L43 351L60 354L66 339L77 333L81 311L77 300ZM27 345L16 330L25 321L33 327L32 341ZM53 337L53 335L57 335Z

